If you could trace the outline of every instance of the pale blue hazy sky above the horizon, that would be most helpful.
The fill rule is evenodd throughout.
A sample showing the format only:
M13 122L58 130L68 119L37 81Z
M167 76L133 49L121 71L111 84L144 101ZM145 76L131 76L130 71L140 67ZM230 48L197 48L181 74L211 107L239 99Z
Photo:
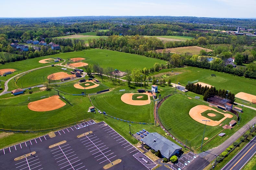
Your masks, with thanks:
M0 17L196 16L256 18L256 0L0 0Z

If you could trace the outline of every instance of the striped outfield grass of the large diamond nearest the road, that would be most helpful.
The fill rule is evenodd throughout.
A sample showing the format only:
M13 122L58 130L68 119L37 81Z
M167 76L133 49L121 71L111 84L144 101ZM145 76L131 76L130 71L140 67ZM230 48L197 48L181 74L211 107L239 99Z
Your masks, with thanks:
M183 143L187 139L194 148L201 145L204 132L204 124L193 120L189 115L190 109L196 105L206 104L196 99L188 99L186 95L176 94L164 101L158 110L164 127ZM231 120L232 118L227 118L223 123L228 124ZM223 130L221 126L206 126L204 137L210 139L221 130Z

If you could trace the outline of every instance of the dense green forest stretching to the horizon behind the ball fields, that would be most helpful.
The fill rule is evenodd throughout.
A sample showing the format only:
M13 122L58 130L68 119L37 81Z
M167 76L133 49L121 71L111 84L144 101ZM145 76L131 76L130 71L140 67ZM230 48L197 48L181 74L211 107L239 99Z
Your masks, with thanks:
M168 61L165 67L195 66L237 76L256 78L256 37L230 35L218 30L236 31L242 27L253 33L256 22L252 19L225 19L172 16L85 16L58 18L0 18L0 63L14 62L59 52L80 51L88 48L116 50L125 53L145 55ZM215 31L213 31L215 30ZM107 38L81 39L54 38L95 32ZM157 37L179 35L192 37L186 41L163 42ZM27 40L53 42L60 50L41 46L40 50L29 47L29 51L14 49L11 43ZM199 55L172 54L166 48L200 46L212 51L200 51ZM160 51L159 51L160 50ZM208 59L214 57L212 62ZM225 60L233 57L235 64Z

